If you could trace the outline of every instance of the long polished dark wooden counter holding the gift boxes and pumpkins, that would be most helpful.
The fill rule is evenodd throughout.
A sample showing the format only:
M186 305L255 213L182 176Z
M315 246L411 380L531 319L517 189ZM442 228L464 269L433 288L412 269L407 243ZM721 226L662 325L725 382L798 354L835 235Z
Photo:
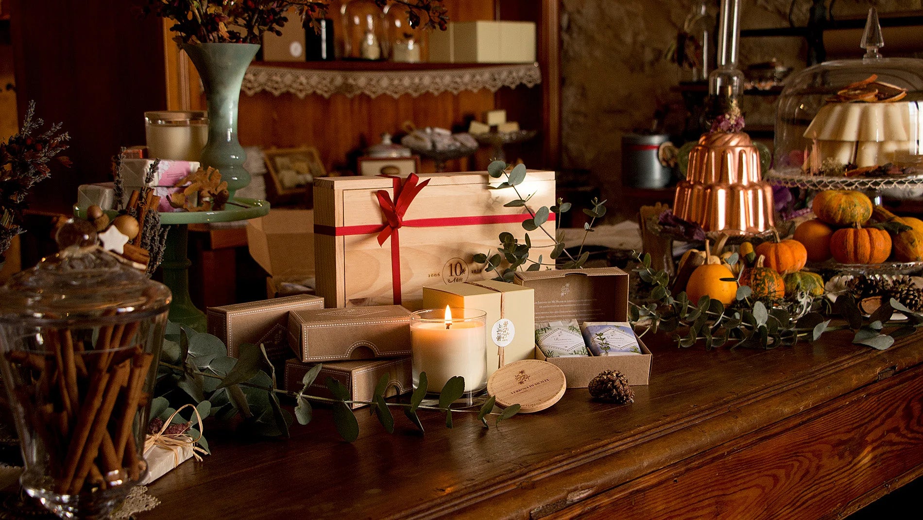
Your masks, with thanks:
M840 517L923 474L920 335L885 351L851 337L714 352L645 337L633 405L572 389L490 430L421 413L423 436L395 410L389 435L362 408L352 444L322 409L287 441L212 435L141 518Z

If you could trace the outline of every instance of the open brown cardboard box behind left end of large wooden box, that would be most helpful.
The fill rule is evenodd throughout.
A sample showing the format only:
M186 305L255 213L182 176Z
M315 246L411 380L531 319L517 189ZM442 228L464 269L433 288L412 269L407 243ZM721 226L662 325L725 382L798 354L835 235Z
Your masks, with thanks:
M314 288L313 210L272 208L247 221L246 242L250 256L270 275L267 298L276 298L284 282Z

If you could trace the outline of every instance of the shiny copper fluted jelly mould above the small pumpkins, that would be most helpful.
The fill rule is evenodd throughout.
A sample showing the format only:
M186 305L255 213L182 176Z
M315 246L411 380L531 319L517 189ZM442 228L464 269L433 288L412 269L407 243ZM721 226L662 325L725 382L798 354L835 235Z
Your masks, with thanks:
M706 231L758 233L773 227L773 188L761 179L760 152L742 132L709 132L689 153L674 212Z

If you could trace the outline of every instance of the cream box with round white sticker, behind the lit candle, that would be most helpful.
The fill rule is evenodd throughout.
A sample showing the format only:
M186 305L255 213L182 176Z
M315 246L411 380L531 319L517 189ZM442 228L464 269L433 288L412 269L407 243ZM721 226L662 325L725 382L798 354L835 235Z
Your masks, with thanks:
M487 376L499 368L497 341L509 344L504 348L504 363L534 358L535 295L534 290L497 280L424 286L423 306L441 309L480 309L487 313ZM500 320L510 323L498 323ZM505 327L506 337L501 332ZM509 326L511 325L511 326Z

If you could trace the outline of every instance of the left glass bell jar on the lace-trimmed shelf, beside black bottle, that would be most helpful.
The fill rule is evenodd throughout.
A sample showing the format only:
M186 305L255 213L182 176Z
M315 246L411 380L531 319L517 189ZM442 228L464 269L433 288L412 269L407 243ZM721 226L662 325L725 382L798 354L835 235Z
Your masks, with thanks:
M343 25L343 58L382 60L388 57L384 14L374 0L350 0L340 8Z

